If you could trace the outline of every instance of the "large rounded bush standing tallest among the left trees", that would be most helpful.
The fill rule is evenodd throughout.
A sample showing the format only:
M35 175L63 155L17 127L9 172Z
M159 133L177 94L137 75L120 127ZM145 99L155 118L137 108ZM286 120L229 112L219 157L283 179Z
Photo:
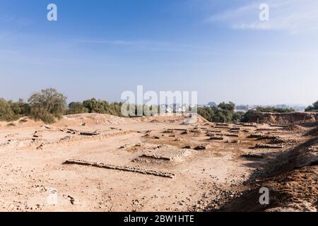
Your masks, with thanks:
M66 97L53 88L31 95L28 102L30 116L48 124L53 123L55 118L61 118L66 109Z

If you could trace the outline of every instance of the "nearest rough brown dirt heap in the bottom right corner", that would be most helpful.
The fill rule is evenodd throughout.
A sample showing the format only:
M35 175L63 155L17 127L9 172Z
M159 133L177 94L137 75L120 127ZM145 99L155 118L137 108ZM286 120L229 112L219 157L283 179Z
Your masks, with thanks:
M318 166L302 167L254 184L254 189L225 204L220 211L294 212L318 210ZM269 189L269 205L259 204L259 189Z

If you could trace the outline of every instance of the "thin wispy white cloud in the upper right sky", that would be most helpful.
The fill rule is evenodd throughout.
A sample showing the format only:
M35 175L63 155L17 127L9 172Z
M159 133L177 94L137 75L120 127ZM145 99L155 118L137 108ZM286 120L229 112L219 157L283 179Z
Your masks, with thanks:
M269 21L259 20L260 4L269 5ZM269 0L226 11L208 18L211 23L225 23L233 29L286 30L291 33L318 32L317 0Z

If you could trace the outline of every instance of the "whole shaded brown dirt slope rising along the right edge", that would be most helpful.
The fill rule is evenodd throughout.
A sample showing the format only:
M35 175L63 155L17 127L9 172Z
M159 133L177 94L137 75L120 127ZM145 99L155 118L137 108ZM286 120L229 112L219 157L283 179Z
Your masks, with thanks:
M271 162L271 173L251 182L251 189L226 203L223 211L317 211L318 137ZM260 205L259 189L269 189L269 205Z

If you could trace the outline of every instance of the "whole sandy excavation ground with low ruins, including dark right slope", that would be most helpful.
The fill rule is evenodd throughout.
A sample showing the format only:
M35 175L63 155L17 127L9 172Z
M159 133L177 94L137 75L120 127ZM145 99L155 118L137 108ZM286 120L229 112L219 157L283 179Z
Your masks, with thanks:
M0 122L0 211L317 211L317 150L317 123Z

